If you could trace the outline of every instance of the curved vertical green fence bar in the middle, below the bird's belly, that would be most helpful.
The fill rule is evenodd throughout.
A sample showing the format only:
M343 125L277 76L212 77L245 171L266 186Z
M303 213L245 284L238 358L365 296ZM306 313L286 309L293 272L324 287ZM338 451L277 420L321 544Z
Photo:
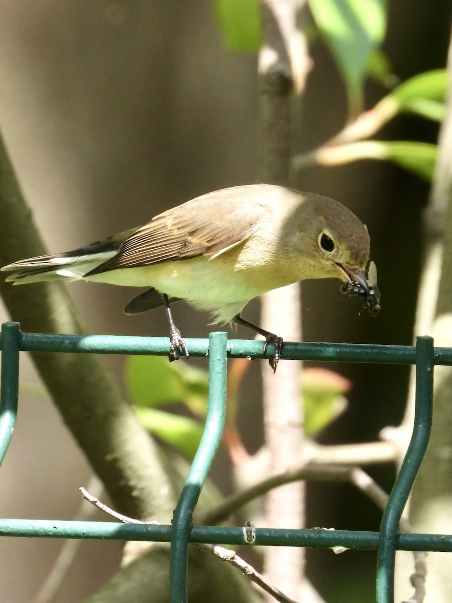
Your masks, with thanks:
M206 426L189 474L174 510L169 563L171 603L187 601L187 561L192 514L202 484L221 440L226 411L227 333L209 336L209 402Z

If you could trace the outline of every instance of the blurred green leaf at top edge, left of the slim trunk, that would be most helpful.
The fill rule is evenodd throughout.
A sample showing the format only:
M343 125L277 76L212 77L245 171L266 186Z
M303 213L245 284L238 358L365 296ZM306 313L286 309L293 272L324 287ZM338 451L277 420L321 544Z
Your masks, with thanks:
M257 52L262 43L259 0L215 0L225 46L233 52Z

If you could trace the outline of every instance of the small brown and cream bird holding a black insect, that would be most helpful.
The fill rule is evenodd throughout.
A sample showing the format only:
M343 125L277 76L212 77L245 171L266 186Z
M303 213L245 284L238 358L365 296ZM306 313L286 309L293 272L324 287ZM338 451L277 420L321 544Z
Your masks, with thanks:
M235 321L265 337L275 353L283 338L242 318L254 297L305 279L336 277L342 291L380 309L374 262L366 276L367 227L344 205L312 192L257 184L213 191L154 216L147 224L72 251L19 260L1 268L14 285L66 279L149 288L125 314L165 306L169 359L189 356L170 304L184 300L214 323ZM370 269L370 266L372 267ZM212 323L213 324L213 323Z

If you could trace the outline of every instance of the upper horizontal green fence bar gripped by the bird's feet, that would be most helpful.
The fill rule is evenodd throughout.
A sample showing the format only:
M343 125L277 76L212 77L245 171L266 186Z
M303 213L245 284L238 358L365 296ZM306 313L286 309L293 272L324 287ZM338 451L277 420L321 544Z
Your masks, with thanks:
M185 339L192 356L207 356L209 339ZM266 358L263 341L255 339L228 339L229 358ZM1 336L0 336L1 347ZM93 354L136 354L166 356L168 337L127 335L52 335L51 333L23 333L22 352L71 352ZM268 356L272 355L272 344ZM371 364L415 364L415 346L384 346L344 343L295 343L283 346L283 359L329 362L360 362ZM452 349L435 348L435 364L452 365Z

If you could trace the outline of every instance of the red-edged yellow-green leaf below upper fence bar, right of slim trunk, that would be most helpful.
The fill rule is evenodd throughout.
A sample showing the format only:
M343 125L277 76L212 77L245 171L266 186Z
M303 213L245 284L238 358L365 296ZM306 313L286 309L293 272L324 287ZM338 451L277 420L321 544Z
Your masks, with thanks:
M351 382L325 368L305 368L302 376L304 431L313 436L337 418L345 408L344 394Z

